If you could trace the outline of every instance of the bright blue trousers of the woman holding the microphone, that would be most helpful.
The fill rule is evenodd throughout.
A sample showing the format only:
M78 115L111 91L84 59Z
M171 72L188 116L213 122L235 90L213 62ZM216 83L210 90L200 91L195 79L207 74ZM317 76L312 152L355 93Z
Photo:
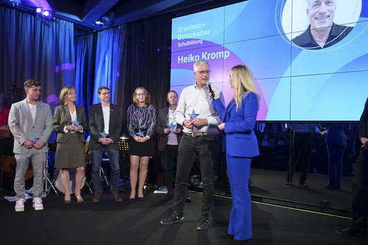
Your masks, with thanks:
M251 158L226 155L232 210L228 233L234 239L246 240L252 237L252 208L248 188Z

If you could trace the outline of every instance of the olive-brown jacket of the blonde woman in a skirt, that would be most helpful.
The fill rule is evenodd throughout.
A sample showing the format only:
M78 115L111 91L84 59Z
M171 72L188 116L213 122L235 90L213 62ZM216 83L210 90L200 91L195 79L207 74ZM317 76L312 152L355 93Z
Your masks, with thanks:
M83 130L87 130L87 117L84 108L81 106L75 106L77 111L77 120L80 121L80 125ZM57 143L66 143L71 136L71 131L64 133L64 126L71 124L71 113L69 112L68 106L57 106L54 113L53 130L57 132ZM77 133L78 139L81 142L85 142L83 133Z

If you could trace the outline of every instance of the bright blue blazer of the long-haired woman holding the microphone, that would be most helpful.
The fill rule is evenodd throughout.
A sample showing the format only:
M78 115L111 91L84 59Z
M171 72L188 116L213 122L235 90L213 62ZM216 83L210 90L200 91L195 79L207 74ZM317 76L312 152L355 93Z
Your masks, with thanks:
M220 99L215 99L212 104L225 123L226 154L233 157L258 156L258 141L253 131L258 111L257 95L249 92L243 96L239 110L234 100L230 101L227 108Z

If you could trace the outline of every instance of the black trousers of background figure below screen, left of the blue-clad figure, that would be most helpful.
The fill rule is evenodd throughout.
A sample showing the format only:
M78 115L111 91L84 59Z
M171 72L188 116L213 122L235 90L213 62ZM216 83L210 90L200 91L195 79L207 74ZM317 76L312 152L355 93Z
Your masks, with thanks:
M303 184L306 181L306 175L309 170L312 152L312 133L297 133L294 132L293 151L291 158L288 161L286 182L293 181L293 174L297 163L301 163L299 183Z

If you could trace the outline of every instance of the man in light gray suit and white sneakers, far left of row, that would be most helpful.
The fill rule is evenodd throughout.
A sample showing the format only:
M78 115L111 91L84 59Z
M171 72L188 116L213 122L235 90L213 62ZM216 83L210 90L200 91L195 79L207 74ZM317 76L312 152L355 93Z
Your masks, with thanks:
M9 128L14 135L14 153L17 159L14 190L17 202L15 211L24 211L26 202L25 177L28 164L33 166L33 207L43 210L42 190L44 186L44 168L48 152L48 137L53 131L53 115L48 104L38 101L41 86L30 79L24 82L26 99L12 104L9 113Z

